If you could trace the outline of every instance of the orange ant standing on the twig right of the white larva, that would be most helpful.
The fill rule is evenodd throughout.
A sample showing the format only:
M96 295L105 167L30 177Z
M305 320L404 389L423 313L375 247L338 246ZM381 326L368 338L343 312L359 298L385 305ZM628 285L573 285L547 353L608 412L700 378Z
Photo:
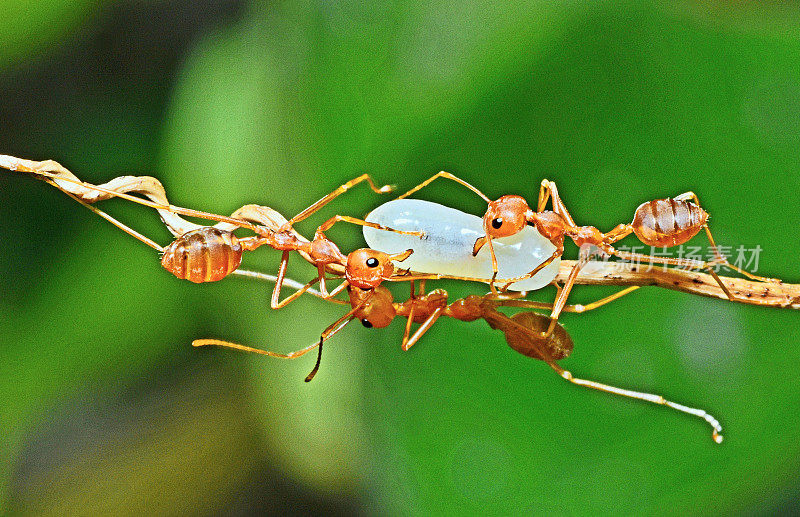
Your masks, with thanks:
M494 272L490 287L495 291L497 277L497 258L495 256L492 239L508 237L519 233L526 225L535 226L536 230L556 247L552 255L537 265L532 271L521 277L512 279L506 283L502 290L505 291L509 285L515 281L523 280L534 276L553 260L560 257L564 252L564 238L569 237L578 247L584 245L595 246L600 252L606 255L615 255L623 260L645 261L649 263L659 263L665 265L682 266L691 269L707 270L719 284L725 295L730 300L735 300L728 287L717 275L714 267L722 264L730 269L761 282L778 282L777 280L753 275L739 267L729 263L720 254L711 230L708 227L708 213L700 207L700 202L693 192L686 192L675 198L658 199L642 203L634 214L630 224L620 224L608 233L602 233L594 226L577 226L572 216L569 214L561 197L558 194L556 184L552 181L542 180L539 189L539 201L536 211L533 211L524 198L517 195L505 195L492 201L483 192L470 185L466 181L448 172L439 172L427 180L423 181L413 189L398 197L403 199L419 191L437 178L445 178L459 183L475 194L480 196L488 204L486 213L483 216L483 228L485 235L479 237L473 247L473 255L484 246L489 246L492 258L492 270ZM553 210L545 210L547 202L552 202ZM652 257L640 253L629 253L619 251L613 247L617 241L627 237L631 233L635 234L643 243L650 246L672 247L683 244L697 235L701 230L705 230L711 248L715 255L714 262L696 261L690 259L680 259L671 257ZM569 292L575 283L578 273L586 263L588 263L593 253L581 257L570 272L563 288L558 288L556 301L551 312L551 325L547 333L551 333L555 328L561 311L566 304Z

